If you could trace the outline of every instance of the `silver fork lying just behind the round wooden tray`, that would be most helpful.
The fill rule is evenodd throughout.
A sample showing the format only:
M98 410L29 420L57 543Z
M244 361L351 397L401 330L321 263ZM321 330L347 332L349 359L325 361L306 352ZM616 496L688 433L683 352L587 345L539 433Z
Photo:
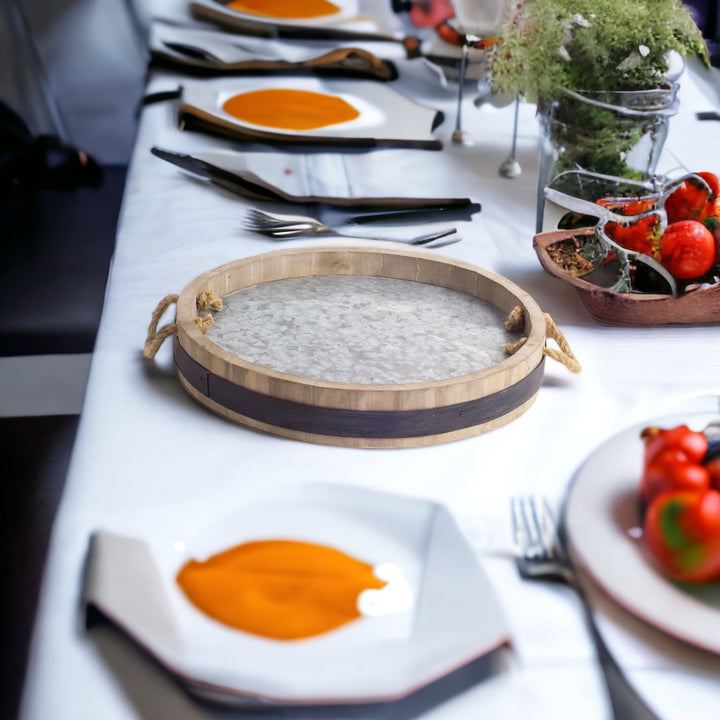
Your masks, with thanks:
M394 238L394 237L377 237L363 236L356 233L344 233L335 228L325 225L312 217L304 215L281 215L279 213L269 213L265 210L250 208L246 215L243 226L247 230L267 235L276 240L287 240L294 237L311 237L313 235L328 235L336 237L350 237L359 240L389 240L392 242L405 243L406 245L427 245L434 240L454 235L457 231L455 228L439 230L425 235L418 235L414 238ZM441 245L450 245L459 242L459 237L446 240ZM440 247L436 245L435 247Z

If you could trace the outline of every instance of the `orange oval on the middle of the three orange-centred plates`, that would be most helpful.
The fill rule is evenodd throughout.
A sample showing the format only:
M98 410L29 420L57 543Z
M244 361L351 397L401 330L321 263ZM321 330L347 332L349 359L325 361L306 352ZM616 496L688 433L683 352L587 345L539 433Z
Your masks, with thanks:
M234 95L225 101L223 110L243 122L283 130L315 130L360 115L349 102L334 95L287 88Z

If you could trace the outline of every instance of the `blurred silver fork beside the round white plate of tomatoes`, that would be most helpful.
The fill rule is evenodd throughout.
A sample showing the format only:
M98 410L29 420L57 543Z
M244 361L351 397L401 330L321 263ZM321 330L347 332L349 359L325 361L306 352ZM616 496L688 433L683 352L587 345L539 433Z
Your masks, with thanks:
M577 593L597 650L613 717L616 720L659 720L630 685L605 644L579 575L560 538L547 500L534 496L513 497L510 501L510 512L513 536L521 553L516 559L520 575L528 579L559 580Z

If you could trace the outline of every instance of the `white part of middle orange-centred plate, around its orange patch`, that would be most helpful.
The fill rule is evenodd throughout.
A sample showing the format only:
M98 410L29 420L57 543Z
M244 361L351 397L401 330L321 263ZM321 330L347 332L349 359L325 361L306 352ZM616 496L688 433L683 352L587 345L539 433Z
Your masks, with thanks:
M307 90L343 98L359 111L354 120L313 130L287 130L243 122L223 110L225 102L240 93L266 88ZM237 134L240 139L340 143L348 145L390 142L440 148L432 135L439 118L434 108L420 105L385 84L370 80L323 80L312 77L237 78L223 82L183 83L181 115Z

